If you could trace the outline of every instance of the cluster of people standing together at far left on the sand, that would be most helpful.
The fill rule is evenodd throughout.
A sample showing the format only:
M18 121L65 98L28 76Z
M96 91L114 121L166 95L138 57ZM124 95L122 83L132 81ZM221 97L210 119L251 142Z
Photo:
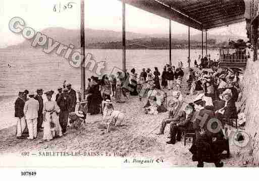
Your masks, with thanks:
M19 91L15 101L15 117L17 118L17 138L23 139L28 129L27 139L37 138L37 133L43 131L43 140L49 141L55 137L66 135L69 115L75 113L76 91L71 84L58 88L56 99L52 96L54 91L44 93L47 100L43 103L43 90ZM84 117L82 112L76 112L79 117Z

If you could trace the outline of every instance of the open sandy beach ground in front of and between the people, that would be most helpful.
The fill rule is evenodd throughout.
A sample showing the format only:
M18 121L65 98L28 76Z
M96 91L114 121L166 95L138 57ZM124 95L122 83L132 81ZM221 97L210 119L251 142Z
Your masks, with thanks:
M183 83L185 83L182 90L184 100L190 102L195 96L185 94L186 80L183 80ZM172 91L165 91L170 96ZM166 144L169 126L166 127L165 135L155 134L159 131L162 119L168 116L168 112L158 115L145 114L143 111L145 103L146 99L139 101L137 96L130 96L126 103L114 103L115 110L125 110L125 119L121 127L111 128L110 133L99 128L101 114L87 115L87 123L81 130L69 128L66 136L50 142L42 141L43 132L38 134L37 139L29 141L16 139L15 126L2 129L0 130L0 155L21 155L24 151L108 151L125 154L126 157L163 157L169 166L196 167L197 162L191 160L192 154L189 152L191 142L187 142L184 146L182 138L181 142L175 145ZM182 105L182 109L185 105L186 103ZM231 158L223 160L224 166L243 166L242 151L230 143ZM205 163L204 166L214 167L214 164Z

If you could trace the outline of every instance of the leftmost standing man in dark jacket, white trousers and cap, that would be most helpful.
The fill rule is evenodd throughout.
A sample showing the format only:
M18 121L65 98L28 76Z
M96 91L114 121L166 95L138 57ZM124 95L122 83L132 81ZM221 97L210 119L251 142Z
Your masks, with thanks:
M16 124L16 132L17 132L17 139L22 139L22 134L26 127L25 117L24 117L24 104L25 104L25 93L20 91L18 94L18 98L15 101L15 117L17 119Z

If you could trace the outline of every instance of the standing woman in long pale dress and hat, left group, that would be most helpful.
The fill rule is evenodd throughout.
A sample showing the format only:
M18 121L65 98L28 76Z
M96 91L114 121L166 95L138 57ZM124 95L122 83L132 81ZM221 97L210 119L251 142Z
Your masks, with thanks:
M47 101L43 105L43 120L44 120L44 129L43 129L43 140L50 141L53 139L53 134L51 133L51 126L54 125L55 131L58 136L62 136L62 128L58 119L58 112L60 107L56 101L51 100L53 91L46 92Z

